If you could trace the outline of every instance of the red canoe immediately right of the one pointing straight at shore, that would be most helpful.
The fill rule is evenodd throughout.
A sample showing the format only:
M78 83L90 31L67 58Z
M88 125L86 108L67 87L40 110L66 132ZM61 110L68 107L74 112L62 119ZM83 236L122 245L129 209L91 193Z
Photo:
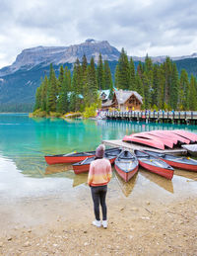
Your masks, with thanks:
M144 151L134 150L140 165L150 172L159 174L164 178L171 180L173 177L173 168L158 157L152 156Z

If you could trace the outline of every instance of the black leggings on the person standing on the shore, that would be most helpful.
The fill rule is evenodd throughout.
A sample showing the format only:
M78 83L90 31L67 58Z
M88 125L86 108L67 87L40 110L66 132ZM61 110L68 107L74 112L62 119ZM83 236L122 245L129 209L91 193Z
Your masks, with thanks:
M100 220L99 218L99 204L100 204L101 211L102 211L102 220L106 220L105 197L107 192L107 185L91 187L91 192L92 192L92 198L94 202L94 211L95 211L96 219Z

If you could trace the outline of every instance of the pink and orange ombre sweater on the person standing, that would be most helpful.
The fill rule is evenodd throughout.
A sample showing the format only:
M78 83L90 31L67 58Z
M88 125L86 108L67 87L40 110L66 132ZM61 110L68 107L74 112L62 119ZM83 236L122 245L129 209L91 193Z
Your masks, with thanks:
M97 159L90 165L88 184L93 187L106 185L110 181L111 176L109 160L105 158Z

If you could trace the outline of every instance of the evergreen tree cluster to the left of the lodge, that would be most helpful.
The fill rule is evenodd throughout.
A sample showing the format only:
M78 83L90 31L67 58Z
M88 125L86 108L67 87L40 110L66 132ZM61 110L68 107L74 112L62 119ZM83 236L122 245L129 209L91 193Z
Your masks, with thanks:
M86 107L99 106L99 89L112 91L113 82L108 61L102 62L99 54L99 62L96 67L92 57L88 64L86 55L82 63L76 60L71 75L71 70L66 66L60 66L59 75L56 77L52 64L50 64L49 77L41 80L35 93L35 110L58 112L83 112Z

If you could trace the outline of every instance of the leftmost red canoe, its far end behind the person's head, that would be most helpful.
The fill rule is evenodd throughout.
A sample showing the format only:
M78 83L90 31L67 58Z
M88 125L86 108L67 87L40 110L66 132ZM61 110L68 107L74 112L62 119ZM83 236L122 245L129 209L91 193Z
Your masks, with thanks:
M107 153L115 153L120 152L121 149L119 147L113 147L109 149L105 149ZM58 164L58 163L77 163L85 160L86 158L93 157L96 155L96 151L88 151L88 152L77 152L77 153L68 153L68 154L58 154L58 155L45 155L45 161L47 164Z

